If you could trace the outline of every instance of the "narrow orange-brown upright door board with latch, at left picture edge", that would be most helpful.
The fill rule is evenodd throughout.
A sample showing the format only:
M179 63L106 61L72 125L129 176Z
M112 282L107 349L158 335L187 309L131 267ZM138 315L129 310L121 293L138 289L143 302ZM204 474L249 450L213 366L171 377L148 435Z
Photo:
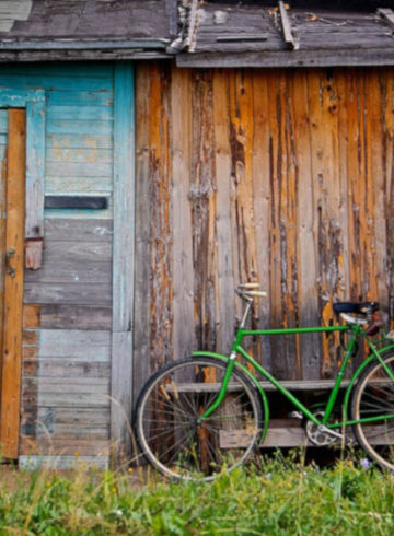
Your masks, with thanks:
M1 171L0 453L16 458L21 407L22 303L26 114L8 110L7 152Z

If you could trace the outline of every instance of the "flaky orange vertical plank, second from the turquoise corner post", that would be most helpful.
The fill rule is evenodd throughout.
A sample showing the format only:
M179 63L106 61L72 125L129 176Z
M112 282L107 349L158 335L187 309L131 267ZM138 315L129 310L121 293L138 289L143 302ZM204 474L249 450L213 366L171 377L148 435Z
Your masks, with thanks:
M149 69L150 366L173 357L173 273L171 221L171 70ZM183 177L186 180L186 176ZM185 209L184 209L185 210Z

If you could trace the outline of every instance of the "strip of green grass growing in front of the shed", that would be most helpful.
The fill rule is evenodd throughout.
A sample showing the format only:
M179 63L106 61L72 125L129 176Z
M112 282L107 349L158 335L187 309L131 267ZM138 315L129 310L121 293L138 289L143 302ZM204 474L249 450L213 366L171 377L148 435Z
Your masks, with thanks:
M394 475L344 459L329 468L296 456L222 474L212 483L44 469L0 476L0 534L394 534Z

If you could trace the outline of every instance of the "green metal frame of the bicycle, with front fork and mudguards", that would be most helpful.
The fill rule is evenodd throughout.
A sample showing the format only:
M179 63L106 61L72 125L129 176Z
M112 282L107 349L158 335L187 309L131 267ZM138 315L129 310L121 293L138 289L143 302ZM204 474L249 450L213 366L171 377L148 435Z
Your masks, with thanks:
M246 317L246 315L245 315ZM245 318L244 317L244 318ZM225 392L231 378L231 373L234 369L234 366L241 369L248 377L250 380L256 385L262 399L264 404L264 408L266 412L268 413L268 404L267 404L267 398L266 394L263 389L263 387L259 385L258 378L253 374L246 366L244 366L242 363L236 361L236 356L241 354L246 363L251 364L255 371L257 371L265 380L270 382L279 393L281 393L288 400L290 400L293 406L296 406L297 409L299 409L304 417L310 419L314 424L316 426L325 426L327 429L336 429L336 428L343 428L346 426L350 424L357 424L361 422L374 422L378 420L381 420L383 418L394 418L393 415L387 415L384 417L369 417L369 418L363 418L360 420L348 420L348 405L349 405L349 399L350 399L350 392L352 389L352 386L361 373L361 371L373 360L378 359L380 363L382 364L383 369L387 373L387 375L391 377L391 380L394 383L394 375L392 371L386 366L384 363L384 360L381 357L381 353L385 350L393 349L394 345L387 345L381 349L378 350L376 346L371 341L369 336L367 335L366 330L358 324L355 325L341 325L341 326L324 326L324 327L297 327L297 328L280 328L280 329L245 329L242 327L244 322L242 322L241 327L237 329L236 335L235 335L235 340L233 343L233 347L231 349L230 356L222 356L220 353L216 352L209 352L209 351L198 351L194 352L194 357L199 357L199 356L206 356L206 357L215 357L219 358L223 361L227 361L228 366L227 371L224 374L224 377L222 380L222 384L220 387L220 391L218 393L218 396L216 399L212 401L211 406L200 416L201 420L208 419L209 416L220 406L222 403ZM264 336L281 336L281 335L297 335L297 334L331 334L331 333L351 333L351 338L347 345L347 348L345 350L345 357L344 360L340 364L339 372L337 374L337 377L335 380L334 386L328 395L328 400L325 406L324 410L324 416L323 419L320 420L316 418L314 413L312 413L299 398L297 398L289 389L287 389L283 385L281 385L280 381L276 380L264 366L262 366L253 357L251 357L242 347L242 341L245 337L264 337ZM336 400L338 398L338 393L341 386L341 382L345 376L345 372L347 370L347 366L349 364L350 358L354 353L355 347L356 347L356 340L358 337L362 337L363 340L368 342L368 346L371 350L371 354L367 358L366 361L363 361L356 372L352 374L350 378L350 383L345 392L345 397L343 401L343 416L344 420L341 422L336 422L336 423L329 423L329 418L333 413L333 409L335 407ZM269 418L269 415L268 415ZM267 419L268 421L268 419ZM263 431L263 436L265 435L265 431Z

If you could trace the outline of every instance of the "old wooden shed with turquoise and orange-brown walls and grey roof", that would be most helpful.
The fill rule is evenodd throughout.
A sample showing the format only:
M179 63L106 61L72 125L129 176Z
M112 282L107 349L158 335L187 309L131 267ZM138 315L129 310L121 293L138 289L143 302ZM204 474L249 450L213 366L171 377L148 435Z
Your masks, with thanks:
M310 3L0 2L3 457L129 455L149 374L229 350L239 282L255 326L394 317L394 13ZM250 351L320 381L334 342Z

